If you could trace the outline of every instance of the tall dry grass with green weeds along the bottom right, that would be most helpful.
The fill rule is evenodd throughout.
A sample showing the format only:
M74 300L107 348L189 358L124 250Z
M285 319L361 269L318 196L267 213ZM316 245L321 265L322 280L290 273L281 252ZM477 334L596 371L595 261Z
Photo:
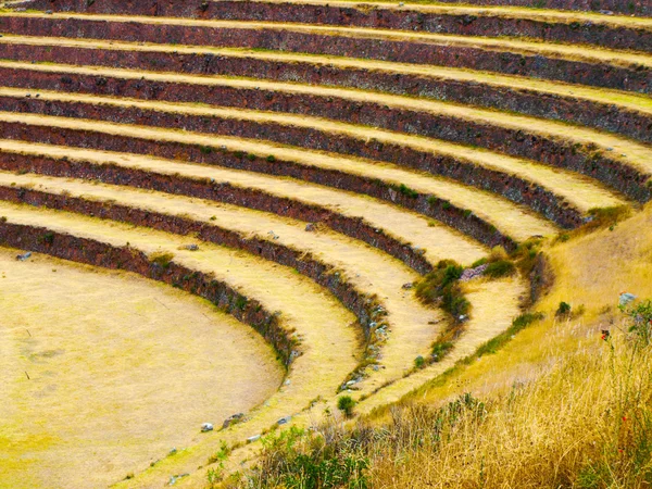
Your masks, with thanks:
M618 334L485 401L396 406L271 438L231 486L638 488L652 485L652 347ZM354 467L347 478L346 467ZM334 477L338 475L339 478ZM242 477L242 475L240 475Z

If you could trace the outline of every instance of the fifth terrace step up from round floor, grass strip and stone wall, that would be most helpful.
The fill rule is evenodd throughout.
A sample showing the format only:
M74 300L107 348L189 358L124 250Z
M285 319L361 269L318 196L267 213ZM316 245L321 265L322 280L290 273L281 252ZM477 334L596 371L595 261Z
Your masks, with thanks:
M567 171L552 170L530 161L369 126L287 113L204 108L192 103L50 91L41 91L38 96L38 100L36 97L26 100L23 90L0 87L0 110L124 121L167 128L181 127L193 131L189 133L192 135L217 134L258 138L313 150L373 158L400 166L425 170L498 192L516 203L529 205L563 227L580 224L581 213L589 209L623 203L613 192ZM463 131L464 124L460 127ZM522 140L525 139L524 136ZM213 145L217 143L218 141L215 141ZM645 151L647 148L641 148L641 152ZM652 154L652 150L649 153ZM554 161L561 161L562 164L574 163L560 159L556 151L553 156ZM605 179L638 200L645 201L650 198L650 189L644 185L649 178L648 173L639 173L619 162L605 161L605 156L599 160L578 160L579 164L574 166L578 166L580 171L593 172L598 178ZM530 191L532 195L529 195Z

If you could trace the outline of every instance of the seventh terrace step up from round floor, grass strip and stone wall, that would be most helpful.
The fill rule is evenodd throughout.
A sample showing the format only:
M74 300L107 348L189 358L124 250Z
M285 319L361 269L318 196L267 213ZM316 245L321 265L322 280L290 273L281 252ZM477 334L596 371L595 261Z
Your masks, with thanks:
M422 99L486 105L586 125L652 142L652 99L649 97L486 72L314 54L29 36L0 38L0 58L32 62L28 66L22 65L21 70L48 70L51 63L67 64L74 60L83 65L116 70L128 67L148 74L159 72L162 77L173 73L177 76L185 73L203 77L218 74L352 87L365 91L373 89ZM48 64L34 64L36 61ZM11 66L11 63L7 66ZM122 72L116 72L115 76L117 73ZM11 77L10 72L8 77ZM67 78L62 78L65 79L65 83L61 82L62 88L68 88L74 83Z

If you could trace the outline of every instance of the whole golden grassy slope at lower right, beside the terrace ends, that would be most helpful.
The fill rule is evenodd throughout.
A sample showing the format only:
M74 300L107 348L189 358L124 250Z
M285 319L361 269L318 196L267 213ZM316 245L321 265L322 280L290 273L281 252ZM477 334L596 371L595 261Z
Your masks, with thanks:
M360 488L650 487L652 347L617 309L623 290L652 298L650 224L652 205L549 244L556 283L537 304L543 321L354 426L268 441L249 482L349 471Z

